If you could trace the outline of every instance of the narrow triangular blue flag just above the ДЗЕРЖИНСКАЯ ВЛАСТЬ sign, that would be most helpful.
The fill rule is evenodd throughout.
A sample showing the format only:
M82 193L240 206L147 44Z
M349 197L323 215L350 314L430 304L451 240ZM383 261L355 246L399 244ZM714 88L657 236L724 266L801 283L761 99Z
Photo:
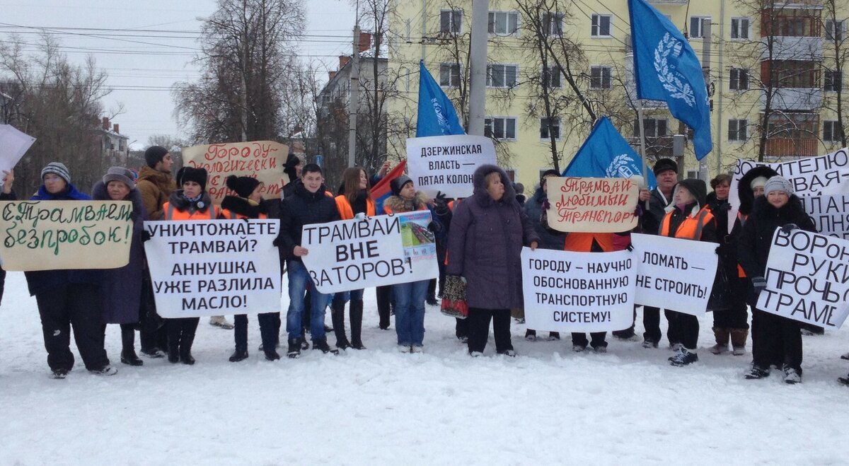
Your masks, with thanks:
M430 76L424 62L419 61L419 117L416 138L465 134L454 106Z

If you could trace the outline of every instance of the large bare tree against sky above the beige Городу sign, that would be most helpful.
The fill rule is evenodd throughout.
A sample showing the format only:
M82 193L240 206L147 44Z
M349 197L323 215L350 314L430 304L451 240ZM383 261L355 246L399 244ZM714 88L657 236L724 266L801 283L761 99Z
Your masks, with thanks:
M200 81L178 84L191 143L277 139L284 81L304 21L301 0L218 0L201 28Z

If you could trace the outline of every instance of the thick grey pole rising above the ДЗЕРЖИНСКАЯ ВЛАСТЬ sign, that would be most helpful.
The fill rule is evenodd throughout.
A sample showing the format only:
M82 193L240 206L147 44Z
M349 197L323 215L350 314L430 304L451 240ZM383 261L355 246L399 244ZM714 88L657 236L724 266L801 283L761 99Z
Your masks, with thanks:
M472 0L469 82L469 134L483 136L486 117L486 35L489 0Z

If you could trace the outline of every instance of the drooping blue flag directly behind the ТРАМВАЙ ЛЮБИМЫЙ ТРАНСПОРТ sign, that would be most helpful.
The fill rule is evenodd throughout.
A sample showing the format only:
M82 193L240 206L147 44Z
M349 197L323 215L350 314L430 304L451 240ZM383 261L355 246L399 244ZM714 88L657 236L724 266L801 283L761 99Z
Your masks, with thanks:
M616 131L606 116L597 121L581 149L578 149L564 177L629 178L643 176L643 159ZM655 173L646 170L649 189L655 188Z

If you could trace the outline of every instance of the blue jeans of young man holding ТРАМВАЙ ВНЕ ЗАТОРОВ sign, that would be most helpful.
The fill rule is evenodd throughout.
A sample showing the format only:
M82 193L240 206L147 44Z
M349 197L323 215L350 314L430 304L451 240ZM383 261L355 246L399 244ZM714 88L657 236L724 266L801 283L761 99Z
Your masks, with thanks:
M306 267L299 261L288 261L289 269L289 312L286 312L286 332L289 333L289 338L303 338L303 329L301 328L301 318L304 313L304 294L306 293L306 285L312 284L310 273L306 272ZM324 310L327 308L330 295L324 295L318 292L318 289L312 287L312 309L310 310L310 334L312 341L322 340L324 338Z

